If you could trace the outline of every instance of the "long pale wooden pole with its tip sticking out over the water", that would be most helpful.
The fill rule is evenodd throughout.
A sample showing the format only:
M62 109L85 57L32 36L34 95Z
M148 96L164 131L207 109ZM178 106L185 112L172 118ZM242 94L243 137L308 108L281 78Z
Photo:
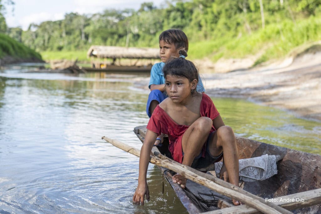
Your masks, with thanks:
M140 156L140 150L135 149L134 147L128 146L125 143L122 143L117 140L113 140L107 137L102 137L101 139L104 139L105 141L111 143L115 147L124 150L126 152L129 152L137 157ZM198 184L202 184L212 190L215 190L218 193L221 193L223 195L229 196L231 198L235 198L239 201L243 201L249 206L255 208L256 210L259 210L263 213L287 213L290 214L291 212L288 210L285 210L282 207L279 207L272 202L265 201L263 198L260 198L256 195L253 195L251 193L248 193L238 186L235 186L233 184L230 184L228 182L225 182L223 180L220 181L220 183L225 182L225 186L221 186L220 184L217 184L213 182L213 180L210 180L206 177L208 177L205 173L202 173L200 171L197 171L191 167L187 167L185 165L179 164L178 162L174 162L170 160L169 158L166 158L165 156L159 158L159 157L150 157L150 162L152 164L155 164L157 166L166 167L170 170L173 170L187 179L190 179ZM216 178L217 179L217 178Z

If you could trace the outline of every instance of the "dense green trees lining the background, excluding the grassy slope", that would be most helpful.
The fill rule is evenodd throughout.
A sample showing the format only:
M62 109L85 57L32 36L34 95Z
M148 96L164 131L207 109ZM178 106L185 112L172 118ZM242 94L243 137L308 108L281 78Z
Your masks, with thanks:
M151 2L143 3L137 11L105 10L91 15L68 13L64 20L32 24L26 31L14 28L7 32L36 50L85 50L90 45L157 47L159 33L169 28L184 30L190 41L215 41L251 35L281 21L296 24L298 19L321 15L321 0L164 2L162 8ZM0 31L6 29L2 26L5 22L1 22L2 11L3 7L0 7ZM282 26L271 29L282 33Z

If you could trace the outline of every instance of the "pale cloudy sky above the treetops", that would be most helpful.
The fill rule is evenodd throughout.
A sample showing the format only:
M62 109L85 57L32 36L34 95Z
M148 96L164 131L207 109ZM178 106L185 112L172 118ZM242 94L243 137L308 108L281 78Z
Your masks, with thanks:
M30 23L64 19L65 13L92 14L105 9L138 10L144 2L153 2L159 7L165 0L13 0L13 7L6 6L8 27L21 27L27 30ZM14 11L12 12L12 9Z

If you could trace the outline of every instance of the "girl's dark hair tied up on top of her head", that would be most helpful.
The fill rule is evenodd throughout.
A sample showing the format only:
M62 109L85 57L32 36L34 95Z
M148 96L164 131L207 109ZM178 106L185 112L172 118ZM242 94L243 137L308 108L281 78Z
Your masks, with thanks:
M182 56L187 56L186 50L182 49L178 51L180 57L172 57L163 67L164 77L167 75L173 75L177 77L187 78L189 82L197 80L198 83L198 69L191 61L185 59Z

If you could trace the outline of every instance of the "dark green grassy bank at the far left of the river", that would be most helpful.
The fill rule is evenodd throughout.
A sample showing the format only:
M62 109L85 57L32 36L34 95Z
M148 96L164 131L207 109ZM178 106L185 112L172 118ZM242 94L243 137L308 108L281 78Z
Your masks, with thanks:
M22 43L0 33L0 58L11 56L17 59L39 59L41 55Z

